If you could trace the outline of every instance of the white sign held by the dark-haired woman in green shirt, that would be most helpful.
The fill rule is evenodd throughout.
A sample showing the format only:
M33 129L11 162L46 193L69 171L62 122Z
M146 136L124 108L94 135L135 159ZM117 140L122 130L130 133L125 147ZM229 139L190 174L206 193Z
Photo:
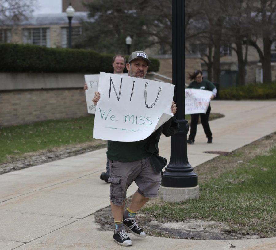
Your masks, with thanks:
M185 114L206 113L210 104L212 91L185 89Z

